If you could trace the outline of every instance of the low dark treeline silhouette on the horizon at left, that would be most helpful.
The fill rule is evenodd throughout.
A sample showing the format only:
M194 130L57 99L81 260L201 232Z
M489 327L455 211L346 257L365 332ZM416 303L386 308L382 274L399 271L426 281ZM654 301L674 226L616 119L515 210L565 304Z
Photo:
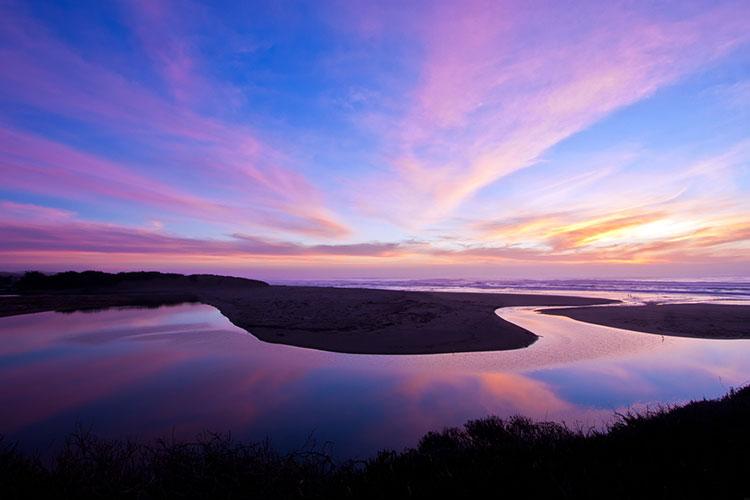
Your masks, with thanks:
M56 274L44 274L39 271L28 271L15 281L14 287L19 293L30 293L95 289L118 285L145 286L149 284L159 284L160 286L269 286L264 281L213 274L183 275L156 271L122 272L116 274L102 271L66 271Z

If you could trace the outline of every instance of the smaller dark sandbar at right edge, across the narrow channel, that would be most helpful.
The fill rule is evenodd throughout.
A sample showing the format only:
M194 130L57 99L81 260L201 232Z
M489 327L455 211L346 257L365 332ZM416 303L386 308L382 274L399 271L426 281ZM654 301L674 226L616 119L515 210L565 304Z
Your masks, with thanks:
M544 314L673 337L750 338L750 306L726 304L647 304L643 306L547 309Z

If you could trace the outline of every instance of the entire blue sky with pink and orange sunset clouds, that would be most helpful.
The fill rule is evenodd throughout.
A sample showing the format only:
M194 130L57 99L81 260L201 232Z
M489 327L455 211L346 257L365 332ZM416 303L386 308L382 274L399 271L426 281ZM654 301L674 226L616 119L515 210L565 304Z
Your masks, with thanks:
M0 270L750 275L750 2L0 0Z

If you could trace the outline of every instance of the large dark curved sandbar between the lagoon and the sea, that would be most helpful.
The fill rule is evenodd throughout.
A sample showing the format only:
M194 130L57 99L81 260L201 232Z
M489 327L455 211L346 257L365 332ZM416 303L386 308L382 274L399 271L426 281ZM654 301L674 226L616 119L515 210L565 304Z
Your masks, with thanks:
M538 337L495 314L509 306L586 306L605 299L296 286L181 284L0 298L0 316L201 302L266 342L353 354L519 349Z

